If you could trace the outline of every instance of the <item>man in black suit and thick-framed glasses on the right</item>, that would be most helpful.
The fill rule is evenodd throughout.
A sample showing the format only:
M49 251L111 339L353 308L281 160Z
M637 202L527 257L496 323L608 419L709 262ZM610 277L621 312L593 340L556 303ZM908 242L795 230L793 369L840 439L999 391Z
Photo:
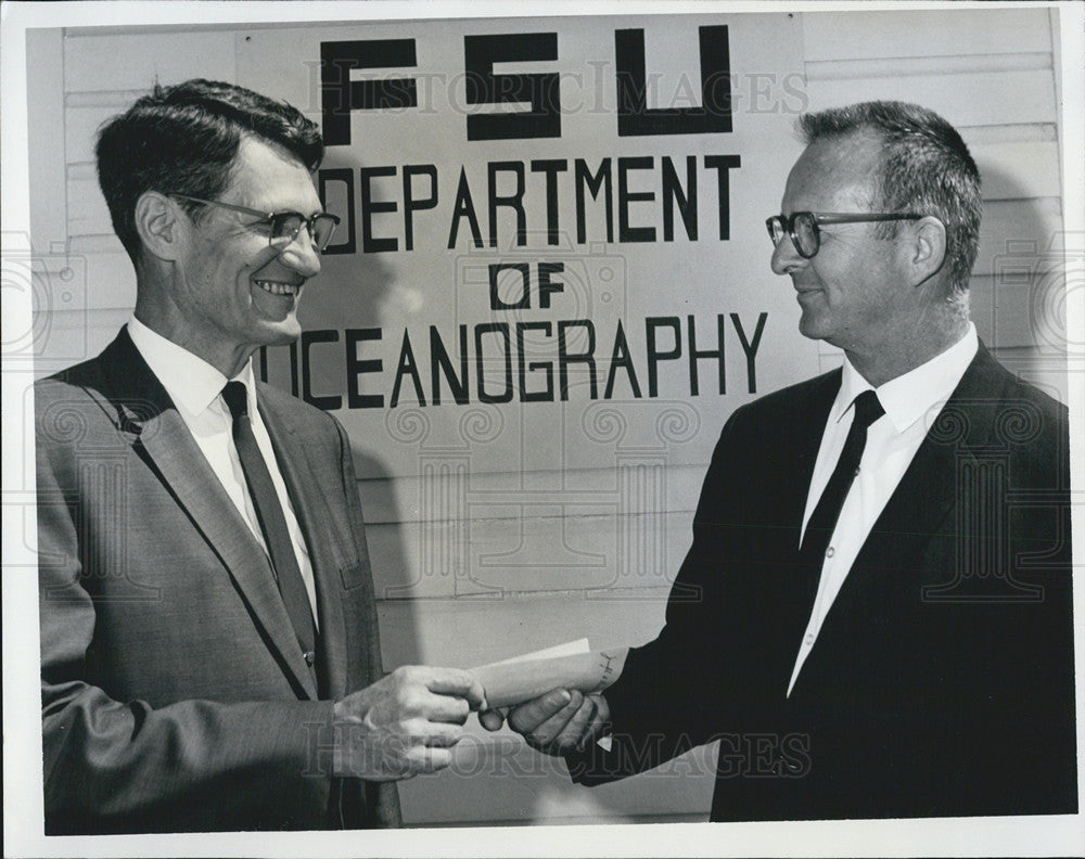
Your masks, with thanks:
M969 321L975 164L916 105L800 126L773 270L844 366L731 415L605 695L509 721L586 784L718 740L712 820L1074 812L1067 409Z

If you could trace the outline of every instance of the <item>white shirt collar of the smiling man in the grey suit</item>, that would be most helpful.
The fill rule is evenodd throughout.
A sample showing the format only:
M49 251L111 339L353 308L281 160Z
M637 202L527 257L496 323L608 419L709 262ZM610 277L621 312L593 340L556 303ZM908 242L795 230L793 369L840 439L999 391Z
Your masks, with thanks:
M227 382L245 384L248 413L255 414L256 389L252 359L232 380L228 380L203 358L152 331L135 316L128 322L128 336L146 361L174 403L189 414L202 414L222 393Z

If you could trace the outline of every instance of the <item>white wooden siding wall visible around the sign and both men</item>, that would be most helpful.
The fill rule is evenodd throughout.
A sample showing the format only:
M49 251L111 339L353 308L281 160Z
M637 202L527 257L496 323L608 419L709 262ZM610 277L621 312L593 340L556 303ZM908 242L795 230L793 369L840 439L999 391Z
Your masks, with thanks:
M984 178L982 244L972 278L976 325L1003 360L1064 399L1063 359L1034 312L1029 279L996 277L1007 242L1016 241L1014 248L1026 252L1025 264L1035 266L1061 229L1055 14L806 14L804 29L810 110L902 99L933 107L961 130ZM995 16L997 26L991 27ZM31 49L35 247L54 270L66 261L77 272L63 290L46 294L51 319L40 339L44 373L101 349L135 299L131 267L94 179L94 130L155 78L233 80L237 69L234 33L225 30L54 30L35 35ZM825 366L838 360L825 349ZM583 476L591 485L600 478ZM423 522L425 495L455 483L439 475L362 482L386 667L470 666L582 636L600 646L651 639L662 624L667 582L688 546L702 476L703 466L668 471L659 512L639 523L618 522L605 511L563 516L560 504L552 516L531 521L493 514ZM485 479L471 486L490 488ZM655 540L663 568L620 576L620 529ZM454 535L470 547L471 568L493 552L518 551L527 559L515 590L495 599L472 582L470 569L423 573L434 547L452 544ZM562 546L595 550L597 565L556 572L548 563L553 547ZM715 659L706 654L705 661L711 666ZM456 771L404 785L408 823L699 820L712 792L711 748L663 772L595 791L570 785L562 765L534 755L512 734L474 729L461 752Z

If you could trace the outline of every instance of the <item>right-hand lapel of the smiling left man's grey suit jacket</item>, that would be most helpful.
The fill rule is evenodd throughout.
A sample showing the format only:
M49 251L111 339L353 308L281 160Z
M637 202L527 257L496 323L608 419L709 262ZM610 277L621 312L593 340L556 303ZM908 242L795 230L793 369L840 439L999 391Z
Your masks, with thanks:
M257 389L260 385L257 385ZM339 557L336 536L330 530L331 513L324 492L314 476L316 463L298 438L290 416L276 409L267 397L259 398L260 416L267 426L276 460L290 492L294 514L305 535L317 586L317 614L327 693L342 697L346 689L346 628L343 618L342 585L339 570L344 561Z

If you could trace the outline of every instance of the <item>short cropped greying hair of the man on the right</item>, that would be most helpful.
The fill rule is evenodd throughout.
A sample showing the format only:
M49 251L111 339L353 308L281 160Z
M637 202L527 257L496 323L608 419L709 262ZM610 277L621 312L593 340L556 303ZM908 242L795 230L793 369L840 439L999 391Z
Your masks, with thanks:
M799 129L807 144L822 138L870 131L882 141L878 170L886 211L933 215L946 228L945 267L950 293L968 290L980 244L980 171L957 129L918 104L873 101L804 114ZM879 225L892 235L897 225Z

